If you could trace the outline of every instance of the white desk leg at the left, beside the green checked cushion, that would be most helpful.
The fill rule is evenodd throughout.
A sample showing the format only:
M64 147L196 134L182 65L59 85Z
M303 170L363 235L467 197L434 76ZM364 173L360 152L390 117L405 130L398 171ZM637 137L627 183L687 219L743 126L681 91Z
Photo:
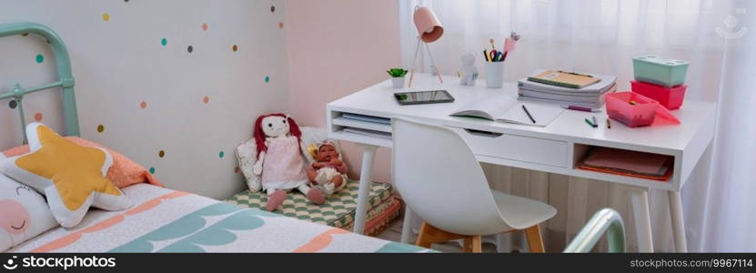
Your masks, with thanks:
M368 199L370 199L370 177L373 174L373 159L376 156L376 146L359 145L362 147L362 169L359 172L359 193L357 197L357 210L355 211L354 233L365 234L365 217L368 212Z

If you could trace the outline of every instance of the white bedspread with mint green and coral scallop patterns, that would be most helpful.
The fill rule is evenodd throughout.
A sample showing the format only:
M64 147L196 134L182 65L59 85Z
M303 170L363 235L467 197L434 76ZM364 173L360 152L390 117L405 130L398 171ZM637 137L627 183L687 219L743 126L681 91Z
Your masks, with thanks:
M136 204L91 210L74 228L55 227L8 252L427 252L259 209L138 184Z

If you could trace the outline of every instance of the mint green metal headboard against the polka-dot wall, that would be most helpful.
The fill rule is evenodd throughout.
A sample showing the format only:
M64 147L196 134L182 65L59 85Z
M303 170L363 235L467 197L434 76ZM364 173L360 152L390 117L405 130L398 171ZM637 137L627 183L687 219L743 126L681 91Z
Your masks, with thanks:
M24 105L22 103L24 95L36 91L46 90L55 87L61 87L63 90L63 118L66 124L66 136L79 136L79 119L76 114L76 96L74 96L74 76L71 74L71 59L68 56L66 44L55 34L55 32L45 25L36 23L10 23L0 25L0 37L9 35L22 34L40 35L47 40L47 44L53 47L55 63L57 65L58 81L55 83L35 86L22 87L16 83L13 90L0 93L0 100L13 98L18 105L19 116L21 117L21 132L25 132ZM24 142L27 143L24 134Z

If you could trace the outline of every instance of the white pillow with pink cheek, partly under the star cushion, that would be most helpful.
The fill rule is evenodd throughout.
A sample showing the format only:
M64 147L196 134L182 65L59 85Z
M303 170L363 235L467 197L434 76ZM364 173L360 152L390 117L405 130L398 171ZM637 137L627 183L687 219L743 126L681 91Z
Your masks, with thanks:
M0 160L4 158L0 153ZM0 174L0 252L53 227L57 222L45 197Z

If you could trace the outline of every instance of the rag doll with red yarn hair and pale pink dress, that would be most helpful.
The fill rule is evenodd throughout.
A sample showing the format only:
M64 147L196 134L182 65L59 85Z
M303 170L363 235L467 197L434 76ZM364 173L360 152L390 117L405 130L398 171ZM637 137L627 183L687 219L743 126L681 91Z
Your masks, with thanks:
M302 145L299 126L284 114L257 117L255 122L257 162L253 172L261 176L262 188L267 192L267 211L283 204L287 192L297 188L313 204L323 204L326 198L317 188L307 186L306 160L312 161L307 147Z

